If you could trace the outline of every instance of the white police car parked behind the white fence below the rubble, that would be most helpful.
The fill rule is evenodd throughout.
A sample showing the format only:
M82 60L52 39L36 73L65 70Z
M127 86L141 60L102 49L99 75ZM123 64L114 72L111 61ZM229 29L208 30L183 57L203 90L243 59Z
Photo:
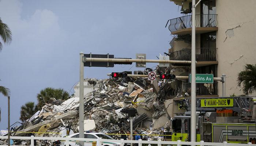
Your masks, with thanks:
M67 137L72 137L72 138L79 138L79 133L75 133L72 135L69 135ZM86 133L84 132L84 138L102 138L102 139L113 139L112 137L102 134L102 133ZM95 142L94 142L95 143ZM95 144L94 144L95 145ZM64 141L61 141L60 146L65 146ZM69 141L69 146L79 146L79 141ZM93 146L93 141L85 141L84 146ZM115 142L102 142L102 146L120 146L120 143L115 143Z

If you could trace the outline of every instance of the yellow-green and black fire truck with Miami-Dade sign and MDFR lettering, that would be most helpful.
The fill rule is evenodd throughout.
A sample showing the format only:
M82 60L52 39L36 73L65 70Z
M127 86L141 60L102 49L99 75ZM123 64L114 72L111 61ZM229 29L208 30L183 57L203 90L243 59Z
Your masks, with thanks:
M172 119L172 141L190 141L190 99L178 108L186 112ZM256 144L255 115L255 97L197 97L196 141Z

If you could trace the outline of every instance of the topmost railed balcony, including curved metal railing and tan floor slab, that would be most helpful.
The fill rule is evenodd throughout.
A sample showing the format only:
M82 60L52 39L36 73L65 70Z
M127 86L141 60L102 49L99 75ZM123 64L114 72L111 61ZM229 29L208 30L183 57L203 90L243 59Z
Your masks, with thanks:
M199 14L195 17L196 33L206 33L211 31L217 31L217 14ZM184 35L191 34L192 30L192 15L182 16L179 18L170 19L167 21L167 24L170 21L169 30L171 34Z

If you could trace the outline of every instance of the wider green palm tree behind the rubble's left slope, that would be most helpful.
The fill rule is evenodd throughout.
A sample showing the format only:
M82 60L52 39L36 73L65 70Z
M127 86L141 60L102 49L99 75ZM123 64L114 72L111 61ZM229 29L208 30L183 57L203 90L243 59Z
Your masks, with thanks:
M67 100L69 98L69 93L64 89L54 89L54 88L45 88L37 94L38 107L41 108L48 103L50 98Z

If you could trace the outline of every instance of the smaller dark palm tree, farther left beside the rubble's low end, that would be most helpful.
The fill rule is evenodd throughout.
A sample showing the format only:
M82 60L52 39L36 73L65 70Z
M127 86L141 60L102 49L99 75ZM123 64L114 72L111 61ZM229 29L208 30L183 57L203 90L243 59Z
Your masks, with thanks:
M36 112L34 102L27 102L25 105L22 105L20 108L20 120L25 122L25 120L29 119Z

